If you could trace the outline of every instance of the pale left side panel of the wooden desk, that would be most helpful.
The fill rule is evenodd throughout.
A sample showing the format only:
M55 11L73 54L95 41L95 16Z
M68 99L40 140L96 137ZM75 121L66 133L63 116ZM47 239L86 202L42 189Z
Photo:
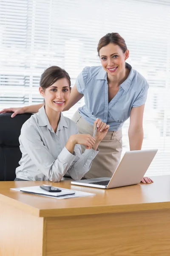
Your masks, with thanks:
M0 202L0 256L45 256L43 218Z

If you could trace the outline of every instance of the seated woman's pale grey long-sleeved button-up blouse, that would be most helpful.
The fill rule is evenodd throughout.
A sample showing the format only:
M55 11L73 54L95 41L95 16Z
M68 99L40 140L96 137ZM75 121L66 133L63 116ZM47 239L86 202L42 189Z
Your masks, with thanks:
M16 169L17 178L23 180L60 181L67 173L74 180L81 179L91 168L98 151L75 145L71 154L65 145L72 134L77 134L76 124L60 115L57 132L51 127L44 106L32 115L21 128L19 137L22 158Z

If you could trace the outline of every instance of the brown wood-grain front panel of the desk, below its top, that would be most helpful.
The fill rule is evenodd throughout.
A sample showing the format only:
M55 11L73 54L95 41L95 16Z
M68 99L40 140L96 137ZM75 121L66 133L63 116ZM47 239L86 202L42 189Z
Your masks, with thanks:
M169 256L170 211L47 218L46 256Z

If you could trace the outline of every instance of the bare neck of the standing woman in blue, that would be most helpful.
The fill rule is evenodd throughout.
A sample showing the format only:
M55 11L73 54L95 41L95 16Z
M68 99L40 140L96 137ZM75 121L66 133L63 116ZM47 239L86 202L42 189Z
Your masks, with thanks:
M129 72L127 68L122 70L122 72L120 72L117 76L111 76L108 74L108 83L112 84L113 86L119 86L127 79L128 75Z

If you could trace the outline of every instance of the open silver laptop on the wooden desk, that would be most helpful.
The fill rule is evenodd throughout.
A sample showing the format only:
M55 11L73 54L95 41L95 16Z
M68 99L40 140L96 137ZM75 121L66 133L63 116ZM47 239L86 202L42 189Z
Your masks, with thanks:
M112 189L141 182L158 149L127 151L111 178L100 177L71 181L71 184Z

